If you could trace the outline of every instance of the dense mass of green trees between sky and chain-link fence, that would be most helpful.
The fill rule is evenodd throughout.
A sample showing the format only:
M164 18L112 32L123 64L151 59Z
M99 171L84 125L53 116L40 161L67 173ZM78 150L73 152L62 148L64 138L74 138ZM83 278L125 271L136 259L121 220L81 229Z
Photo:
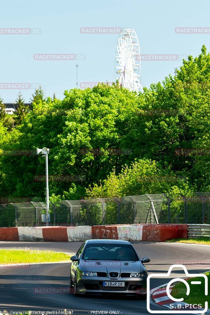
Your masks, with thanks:
M75 176L49 182L54 200L208 191L209 155L177 149L210 148L209 77L210 54L203 46L176 76L151 84L143 94L101 83L52 100L44 99L40 88L31 111L21 108L12 127L0 111L0 148L50 148L49 175ZM23 106L21 95L19 101ZM43 157L2 154L0 195L44 197L45 182L34 180L44 174Z

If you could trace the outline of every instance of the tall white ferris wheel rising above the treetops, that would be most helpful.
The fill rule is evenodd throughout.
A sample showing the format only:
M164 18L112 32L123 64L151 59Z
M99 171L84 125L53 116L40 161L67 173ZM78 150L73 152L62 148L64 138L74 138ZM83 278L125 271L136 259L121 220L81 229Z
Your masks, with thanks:
M124 28L118 37L115 79L131 91L144 92L141 86L139 40L133 28Z

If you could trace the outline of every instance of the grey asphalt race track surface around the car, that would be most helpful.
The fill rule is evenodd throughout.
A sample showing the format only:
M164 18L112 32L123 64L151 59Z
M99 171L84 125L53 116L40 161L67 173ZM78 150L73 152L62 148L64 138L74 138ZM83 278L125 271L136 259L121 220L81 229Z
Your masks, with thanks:
M210 257L209 246L149 242L132 243L141 258L150 258L150 263L145 264L149 274L165 273L171 265L178 262L208 262ZM0 242L0 249L27 247L75 253L81 244L82 242ZM67 309L73 310L75 315L97 314L93 311L108 311L108 314L110 311L115 311L115 314L119 315L150 314L147 311L146 301L141 301L134 296L82 295L81 297L74 297L70 293L35 293L36 289L40 288L68 289L70 266L71 262L38 264L29 267L0 267L0 311L51 311L53 315L57 315ZM200 273L209 270L210 267L188 266L187 269L190 273ZM151 279L151 289L177 277L184 277L181 269L174 270L170 278ZM159 311L167 310L163 306L151 308Z

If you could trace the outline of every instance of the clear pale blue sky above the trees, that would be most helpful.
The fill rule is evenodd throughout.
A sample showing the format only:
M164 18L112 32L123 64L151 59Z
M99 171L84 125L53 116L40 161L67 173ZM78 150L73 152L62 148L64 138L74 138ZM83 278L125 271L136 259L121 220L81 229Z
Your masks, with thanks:
M82 34L81 27L127 27L136 31L141 54L197 56L210 34L176 34L176 27L210 27L210 2L202 0L7 0L0 28L38 28L39 35L0 35L0 83L40 83L46 96L63 98L80 82L114 81L118 34ZM34 60L34 54L85 54L85 60ZM142 61L142 86L162 81L181 60ZM0 89L5 102L19 90ZM33 89L21 90L28 102Z

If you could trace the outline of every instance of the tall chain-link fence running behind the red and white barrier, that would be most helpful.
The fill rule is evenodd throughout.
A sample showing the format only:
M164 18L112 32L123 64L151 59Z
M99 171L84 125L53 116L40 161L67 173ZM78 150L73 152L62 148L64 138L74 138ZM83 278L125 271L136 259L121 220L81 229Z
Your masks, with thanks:
M210 192L171 198L166 194L50 202L49 225L133 223L210 224ZM46 203L0 204L0 227L46 225Z

